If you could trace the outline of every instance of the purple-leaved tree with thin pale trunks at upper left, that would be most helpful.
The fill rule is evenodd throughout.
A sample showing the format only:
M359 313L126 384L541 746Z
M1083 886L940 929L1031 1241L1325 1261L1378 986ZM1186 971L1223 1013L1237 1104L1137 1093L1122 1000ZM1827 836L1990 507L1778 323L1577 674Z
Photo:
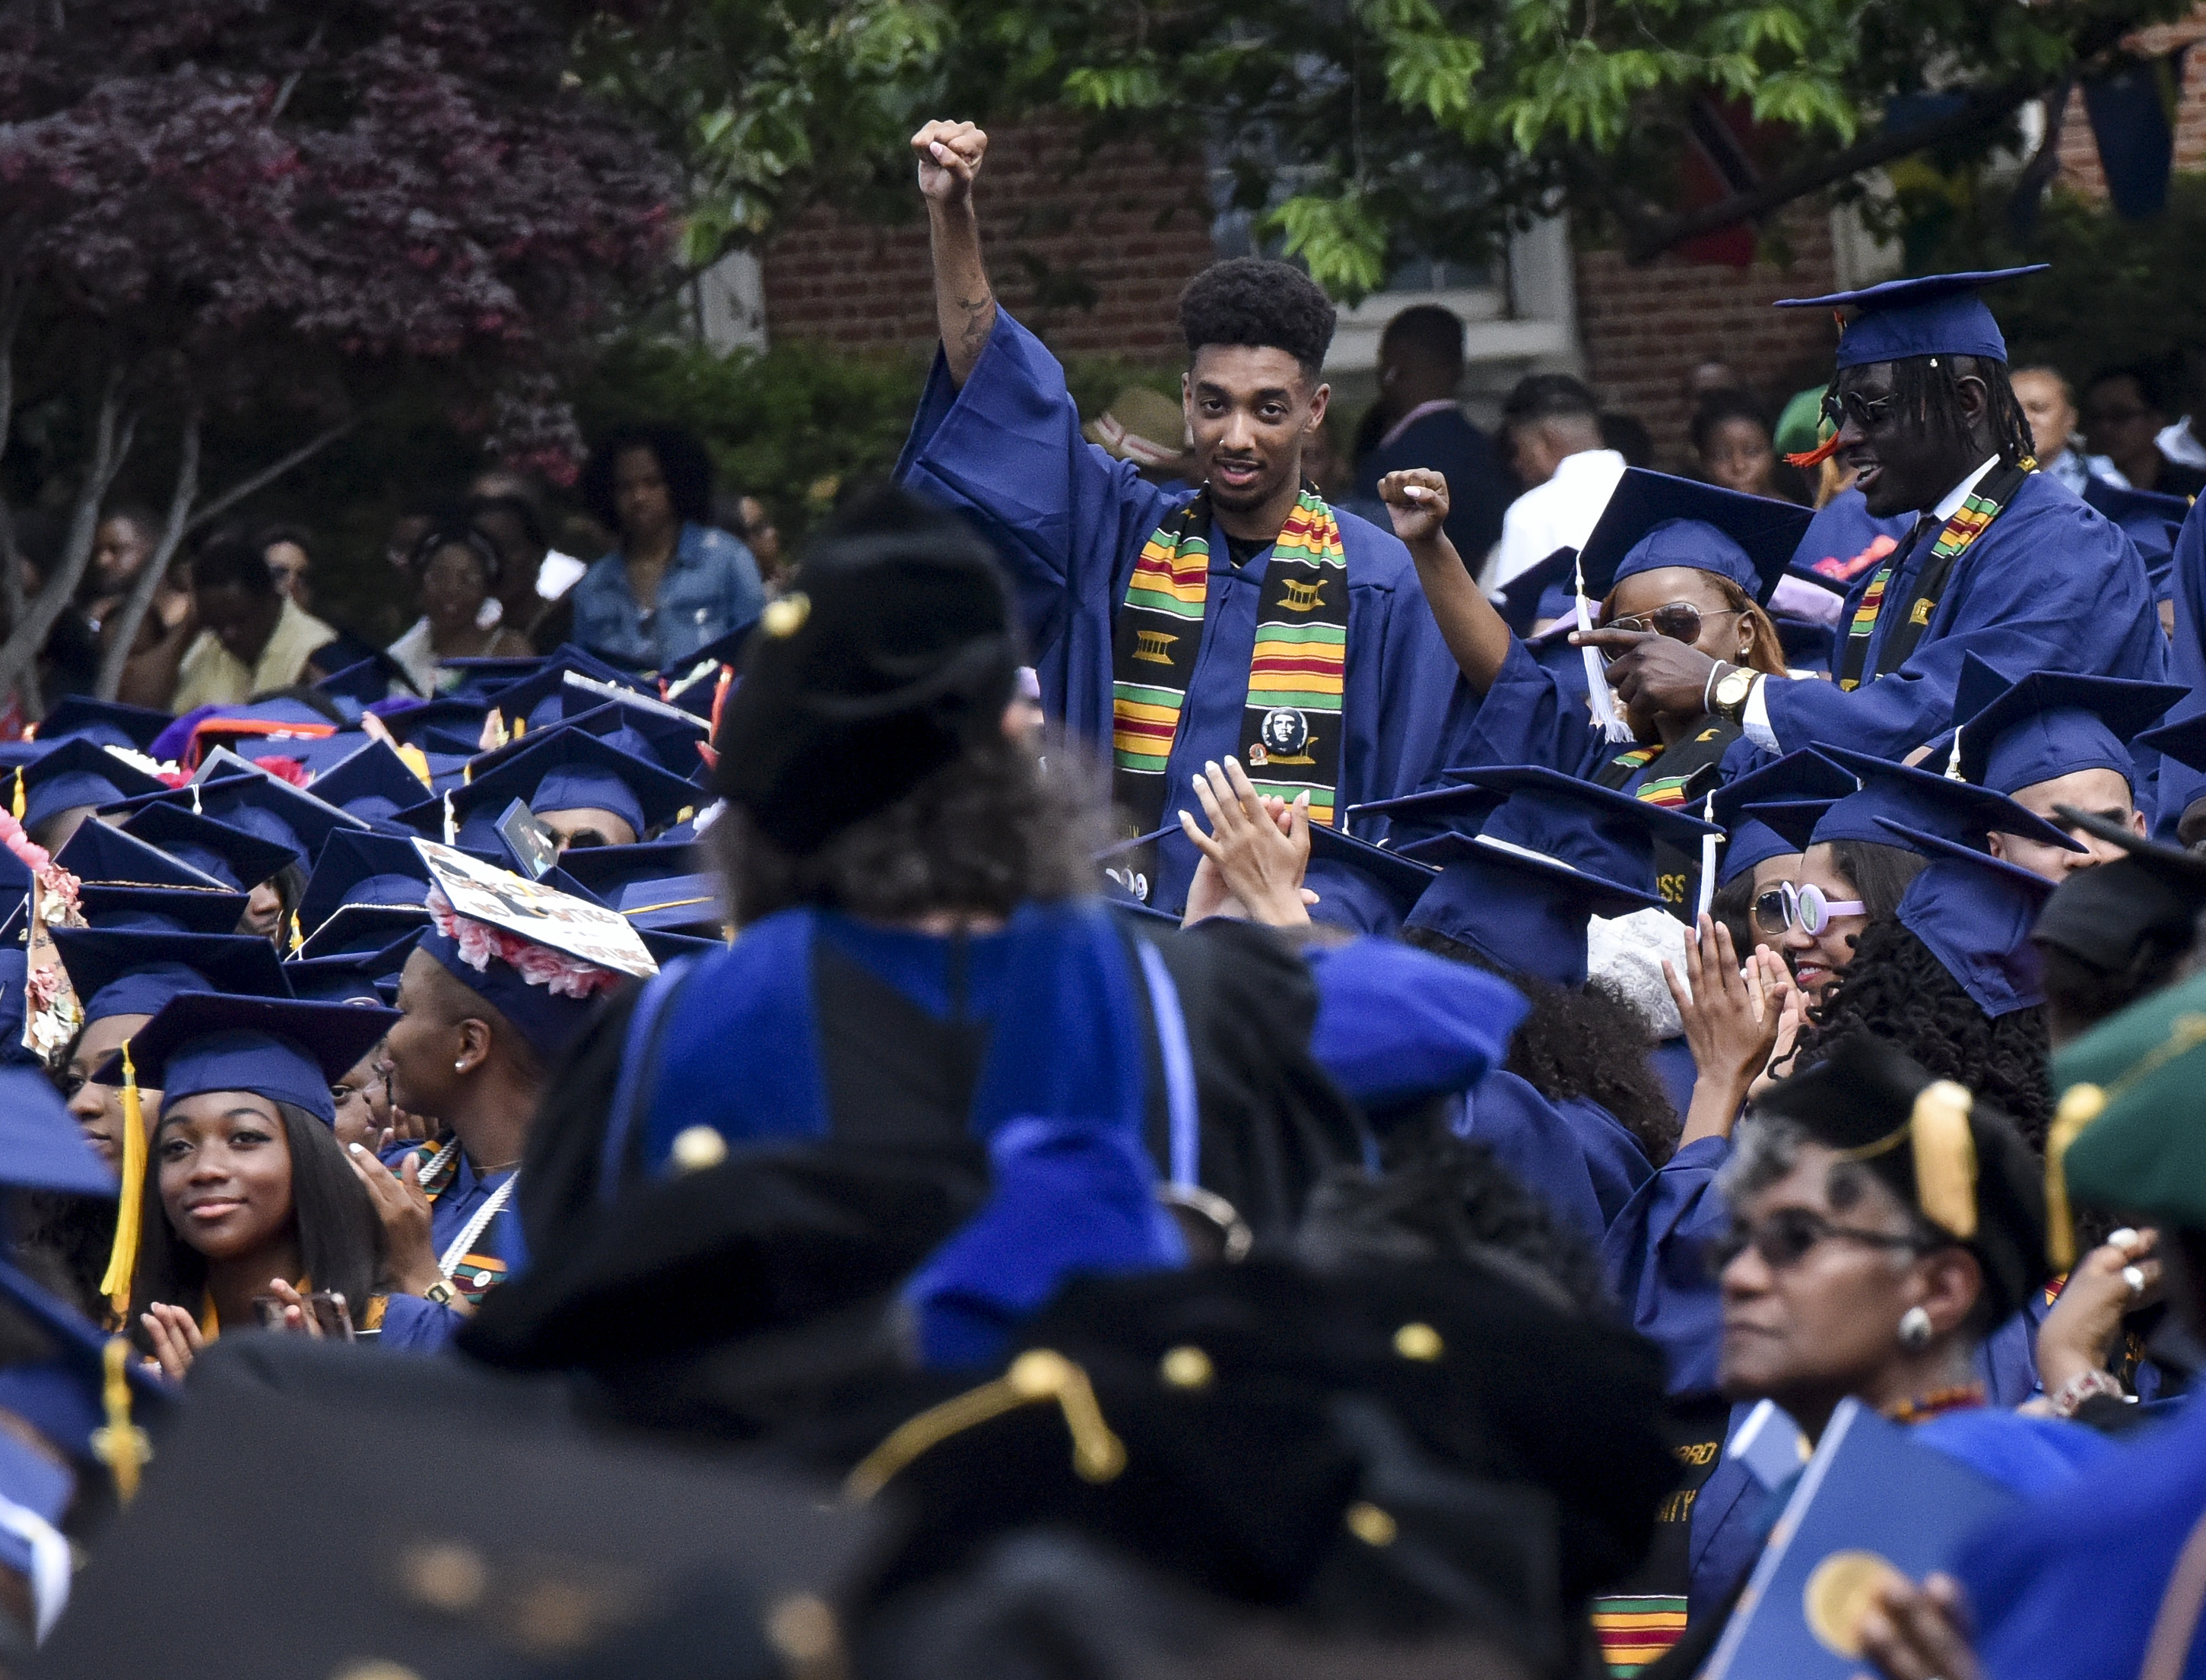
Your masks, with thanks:
M576 454L560 375L664 287L675 179L525 0L0 0L0 450L79 437L62 560L26 600L0 507L0 694L93 551L132 450L172 454L113 694L176 545L424 375L516 463ZM210 417L296 448L201 483Z

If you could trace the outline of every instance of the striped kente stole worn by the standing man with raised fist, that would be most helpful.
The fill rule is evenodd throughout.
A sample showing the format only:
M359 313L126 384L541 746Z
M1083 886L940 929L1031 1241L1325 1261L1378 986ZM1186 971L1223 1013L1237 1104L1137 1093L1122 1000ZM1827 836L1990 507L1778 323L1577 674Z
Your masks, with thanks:
M1165 769L1187 706L1211 582L1211 498L1198 494L1141 547L1112 637L1112 798L1127 833L1163 820ZM1240 756L1260 794L1310 796L1332 822L1348 670L1348 551L1304 487L1264 567Z

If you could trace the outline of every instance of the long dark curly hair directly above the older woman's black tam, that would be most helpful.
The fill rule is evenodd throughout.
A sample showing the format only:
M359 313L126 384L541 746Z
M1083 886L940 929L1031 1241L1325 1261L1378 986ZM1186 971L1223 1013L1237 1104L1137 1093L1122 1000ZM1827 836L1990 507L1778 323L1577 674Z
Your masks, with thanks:
M1913 1056L1937 1078L1966 1085L2014 1120L2045 1153L2054 1118L2045 1008L2010 1010L1996 1021L1977 1008L1946 966L1897 919L1871 922L1800 1034L1793 1069L1855 1032L1871 1032Z

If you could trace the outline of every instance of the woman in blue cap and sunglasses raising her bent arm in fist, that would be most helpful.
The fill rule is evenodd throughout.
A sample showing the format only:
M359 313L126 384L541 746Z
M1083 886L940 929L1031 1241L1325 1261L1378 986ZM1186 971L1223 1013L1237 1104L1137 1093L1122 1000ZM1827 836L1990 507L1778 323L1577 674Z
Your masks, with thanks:
M1379 496L1410 547L1463 690L1449 712L1447 765L1546 765L1654 805L1694 805L1767 761L1741 725L1659 717L1624 703L1630 741L1591 725L1584 675L1544 668L1480 593L1447 540L1447 481L1390 472ZM1763 602L1776 591L1809 514L1716 485L1628 470L1586 538L1577 569L1599 622L1685 642L1712 659L1782 675L1785 650ZM1604 690L1606 692L1606 690ZM1659 858L1663 897L1688 906L1699 858Z

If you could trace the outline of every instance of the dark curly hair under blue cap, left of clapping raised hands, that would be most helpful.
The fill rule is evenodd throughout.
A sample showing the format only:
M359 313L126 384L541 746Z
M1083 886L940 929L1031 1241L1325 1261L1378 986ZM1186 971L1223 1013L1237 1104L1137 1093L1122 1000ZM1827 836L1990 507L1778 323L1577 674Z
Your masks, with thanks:
M1575 1096L1608 1109L1654 1166L1677 1153L1677 1109L1648 1063L1654 1041L1639 1010L1606 992L1599 981L1571 990L1538 974L1504 972L1460 939L1432 928L1403 928L1401 937L1438 957L1500 974L1524 994L1531 1010L1509 1038L1511 1074L1549 1102Z

